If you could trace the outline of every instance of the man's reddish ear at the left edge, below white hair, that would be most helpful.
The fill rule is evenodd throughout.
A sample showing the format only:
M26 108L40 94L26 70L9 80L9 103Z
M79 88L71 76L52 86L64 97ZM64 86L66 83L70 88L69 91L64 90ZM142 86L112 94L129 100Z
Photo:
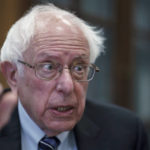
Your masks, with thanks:
M16 65L12 64L9 61L4 61L0 64L1 71L4 75L4 77L7 80L8 85L11 87L12 90L17 89L17 80L16 80L16 73L17 73L17 67Z

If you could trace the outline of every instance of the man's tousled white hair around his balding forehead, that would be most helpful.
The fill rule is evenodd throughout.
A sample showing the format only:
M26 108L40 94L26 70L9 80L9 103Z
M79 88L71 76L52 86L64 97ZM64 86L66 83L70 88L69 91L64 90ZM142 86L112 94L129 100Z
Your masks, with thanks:
M10 61L16 63L23 59L23 52L27 50L31 39L35 34L36 18L42 12L50 13L49 17L69 17L70 21L79 27L88 41L90 48L90 62L94 63L96 58L103 52L104 38L100 35L101 31L88 25L85 21L75 16L73 13L62 10L53 4L34 6L25 16L19 19L9 30L7 38L1 48L1 61ZM19 67L19 66L18 66Z

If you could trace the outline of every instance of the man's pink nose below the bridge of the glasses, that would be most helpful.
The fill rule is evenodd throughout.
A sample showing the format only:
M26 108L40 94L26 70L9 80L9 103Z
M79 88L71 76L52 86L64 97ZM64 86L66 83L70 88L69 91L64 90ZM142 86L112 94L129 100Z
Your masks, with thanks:
M63 69L60 77L58 78L58 83L56 87L57 91L69 95L74 90L74 83L71 77L69 69Z

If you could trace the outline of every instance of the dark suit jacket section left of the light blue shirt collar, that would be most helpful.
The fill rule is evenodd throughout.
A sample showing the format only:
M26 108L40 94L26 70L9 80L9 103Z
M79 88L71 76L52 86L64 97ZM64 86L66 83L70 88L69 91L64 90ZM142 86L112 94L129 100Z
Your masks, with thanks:
M21 136L18 110L16 109L11 120L0 131L1 150L21 150Z

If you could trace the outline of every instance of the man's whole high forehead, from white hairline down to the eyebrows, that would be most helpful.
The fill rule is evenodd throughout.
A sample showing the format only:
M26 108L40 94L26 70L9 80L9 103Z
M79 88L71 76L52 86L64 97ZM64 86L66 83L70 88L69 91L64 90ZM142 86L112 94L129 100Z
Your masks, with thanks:
M31 59L61 52L75 57L89 56L89 45L82 31L66 19L49 22L45 26L40 23L35 30L36 34L25 52L25 55Z

